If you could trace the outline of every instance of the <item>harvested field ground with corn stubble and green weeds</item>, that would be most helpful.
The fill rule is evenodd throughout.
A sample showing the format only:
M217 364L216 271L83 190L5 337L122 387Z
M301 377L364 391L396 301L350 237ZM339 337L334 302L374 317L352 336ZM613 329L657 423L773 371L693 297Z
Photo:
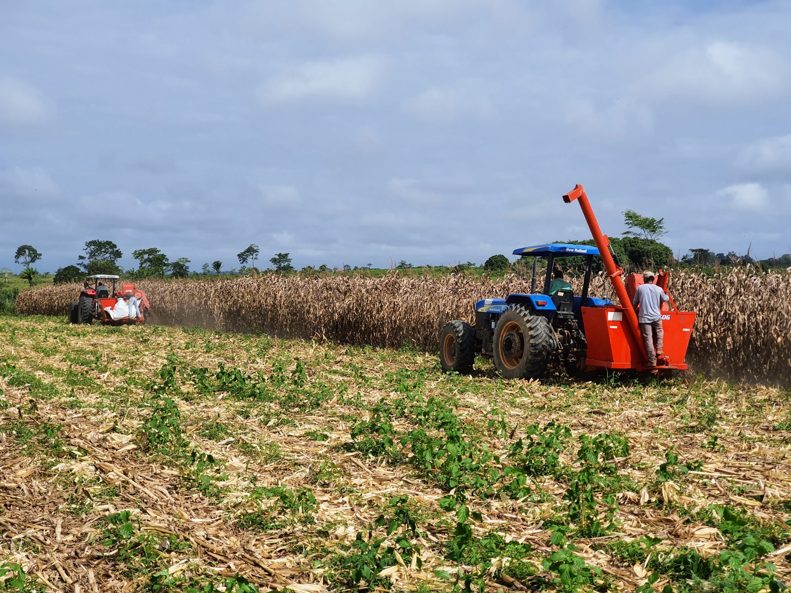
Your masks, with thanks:
M0 317L0 579L774 591L789 440L776 388L502 381L415 349Z

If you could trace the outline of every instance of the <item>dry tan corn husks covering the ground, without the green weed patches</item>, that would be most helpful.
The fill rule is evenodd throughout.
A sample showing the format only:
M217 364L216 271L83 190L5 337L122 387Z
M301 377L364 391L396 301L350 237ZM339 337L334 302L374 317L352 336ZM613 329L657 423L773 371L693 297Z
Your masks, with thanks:
M182 369L190 365L214 372L224 364L248 376L271 377L278 364L290 376L298 361L307 383L326 383L331 398L312 410L282 409L227 392L198 392L176 373L178 389L170 395L185 438L224 464L222 474L212 478L221 494L206 495L178 460L144 448L140 436L151 417L146 384L170 355ZM662 540L656 553L694 549L717 557L727 546L725 538L696 515L709 505L744 509L775 531L788 531L791 520L789 402L788 394L775 388L706 381L501 382L491 366L474 376L442 375L432 355L414 351L13 317L0 319L0 361L0 564L21 565L28 578L50 591L146 590L152 571L130 568L142 550L124 557L117 544L103 543L108 515L122 511L131 512L135 537L151 539L157 571L173 577L214 574L218 583L239 572L261 591L329 591L339 584L328 584L331 568L316 562L343 557L355 535L367 533L388 500L403 493L419 512L423 568L402 558L403 564L387 568L385 576L395 591L414 591L418 585L447 591L451 585L434 569L455 574L462 567L445 558L452 537L452 523L448 527L445 521L453 515L436 503L445 491L432 474L347 447L354 422L369 417L369 406L403 395L403 370L422 373L422 385L410 386L422 396L456 401L455 414L475 428L470 433L482 435L486 448L503 459L509 443L524 437L532 423L567 425L575 438L600 432L628 437L630 456L619 460L619 471L634 491L618 493L617 530L601 538L575 538L578 553L602 568L613 590L634 591L645 584L651 568L647 558L642 564L623 561L607 543L651 536ZM492 410L513 427L507 438L486 429L487 420L498 416L486 415ZM220 425L228 432L209 430ZM55 431L57 441L45 427ZM407 419L398 426L399 431L416 428ZM326 438L319 440L316 433ZM709 444L713 436L718 440ZM566 465L576 457L574 444L562 454ZM671 448L679 461L703 465L657 484L657 468ZM251 493L275 485L294 492L312 489L315 523L241 526L240 516L274 504L271 499L256 502ZM547 475L536 478L540 500L474 497L472 508L483 517L475 524L475 537L496 531L529 543L530 561L540 570L540 561L556 550L543 521L562 510L566 487L562 478ZM287 513L273 517L282 515ZM188 546L168 546L168 536ZM791 576L789 550L784 538L766 555L785 582ZM501 557L494 568L507 562ZM524 587L495 570L490 578L486 591ZM668 584L666 579L663 575L657 587Z

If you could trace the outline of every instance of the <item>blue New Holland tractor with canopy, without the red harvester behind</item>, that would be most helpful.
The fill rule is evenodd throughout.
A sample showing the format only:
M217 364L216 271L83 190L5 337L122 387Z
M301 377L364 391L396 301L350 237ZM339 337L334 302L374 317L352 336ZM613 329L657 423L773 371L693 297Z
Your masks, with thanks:
M505 299L484 299L475 303L475 327L464 321L445 324L440 334L442 370L467 373L475 356L494 359L494 366L506 379L540 376L553 360L573 373L585 370L587 342L581 319L582 307L605 307L607 299L588 296L593 258L599 249L589 245L544 244L522 247L513 255L534 256L532 294L510 294ZM556 258L585 258L582 292L551 289ZM539 258L547 260L547 274L540 293L536 292Z

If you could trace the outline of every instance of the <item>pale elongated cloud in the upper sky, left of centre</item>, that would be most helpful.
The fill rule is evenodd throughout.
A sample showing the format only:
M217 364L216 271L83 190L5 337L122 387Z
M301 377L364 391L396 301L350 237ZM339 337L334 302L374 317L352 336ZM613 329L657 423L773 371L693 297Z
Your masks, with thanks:
M309 98L363 100L376 89L381 62L370 57L308 62L279 74L259 89L265 104Z

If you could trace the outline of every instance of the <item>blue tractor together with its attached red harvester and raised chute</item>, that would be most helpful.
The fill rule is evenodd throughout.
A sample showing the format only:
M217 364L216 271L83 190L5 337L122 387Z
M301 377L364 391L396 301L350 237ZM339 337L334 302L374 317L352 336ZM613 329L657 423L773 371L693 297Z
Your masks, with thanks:
M600 368L634 369L670 376L686 369L684 357L694 324L694 312L681 312L670 297L662 307L663 354L657 366L648 365L648 354L640 334L637 312L632 306L634 291L643 282L642 274L629 274L624 286L621 267L610 241L603 235L588 196L581 185L563 196L565 202L578 200L591 229L596 247L571 244L543 244L522 247L514 255L535 256L532 293L513 293L505 298L479 300L475 304L475 326L451 321L439 339L440 362L445 372L467 373L475 356L492 357L494 366L506 379L540 376L552 361L559 361L578 375ZM547 259L543 290L536 293L537 261ZM585 278L581 294L560 289L549 294L554 259L584 257ZM604 264L620 304L589 296L594 258ZM657 285L668 293L669 273L660 270ZM668 293L669 296L669 293Z

